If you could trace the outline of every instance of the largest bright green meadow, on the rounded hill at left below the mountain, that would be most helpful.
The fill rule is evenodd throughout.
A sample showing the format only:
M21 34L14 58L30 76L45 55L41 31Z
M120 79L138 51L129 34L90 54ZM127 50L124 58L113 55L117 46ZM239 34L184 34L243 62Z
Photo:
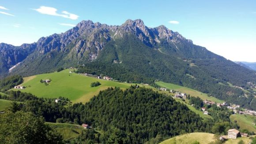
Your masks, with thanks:
M24 82L21 85L26 86L26 89L20 89L20 91L30 92L35 96L46 98L64 96L69 98L73 103L84 103L89 101L94 95L97 95L100 90L107 89L108 87L120 87L121 89L126 89L132 85L129 83L120 83L87 77L75 73L69 73L69 71L70 70L63 70L60 72L38 74L24 78ZM41 79L51 79L52 81L49 85L44 85L40 82ZM90 84L95 81L99 81L102 85L90 87ZM146 87L149 86L146 85Z

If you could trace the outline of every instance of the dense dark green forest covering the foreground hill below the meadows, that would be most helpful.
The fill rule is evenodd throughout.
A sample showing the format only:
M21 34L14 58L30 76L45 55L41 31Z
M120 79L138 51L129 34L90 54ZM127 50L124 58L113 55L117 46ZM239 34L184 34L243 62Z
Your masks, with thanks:
M215 107L211 111L214 119L202 120L198 114L173 98L151 89L137 88L136 85L126 90L109 88L88 103L74 103L71 106L67 106L70 101L63 97L55 103L55 99L38 98L30 93L8 91L7 94L9 96L0 98L21 103L13 102L3 117L8 118L13 115L11 113L31 113L30 117L42 117L46 122L86 123L92 127L75 139L57 139L65 143L144 144L160 142L183 133L225 134L227 129L238 128L230 122L229 115L232 113L227 109ZM199 98L191 97L190 102L202 107ZM11 133L10 130L3 129L3 133ZM23 137L22 134L20 137Z

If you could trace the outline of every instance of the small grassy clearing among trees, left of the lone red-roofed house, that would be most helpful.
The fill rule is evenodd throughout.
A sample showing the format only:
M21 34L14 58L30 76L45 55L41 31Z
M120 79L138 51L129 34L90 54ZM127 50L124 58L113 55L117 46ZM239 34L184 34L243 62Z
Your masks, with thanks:
M51 128L56 129L65 140L79 136L82 131L83 127L79 125L73 125L68 123L52 123L52 122L45 122Z

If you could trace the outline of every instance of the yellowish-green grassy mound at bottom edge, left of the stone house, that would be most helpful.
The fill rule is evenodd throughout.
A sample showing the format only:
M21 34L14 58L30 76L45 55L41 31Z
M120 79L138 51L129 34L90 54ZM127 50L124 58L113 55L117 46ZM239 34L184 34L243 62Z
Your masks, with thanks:
M214 141L214 134L212 133L188 133L181 136L173 137L161 142L160 144L191 144L194 141L200 144L209 144Z

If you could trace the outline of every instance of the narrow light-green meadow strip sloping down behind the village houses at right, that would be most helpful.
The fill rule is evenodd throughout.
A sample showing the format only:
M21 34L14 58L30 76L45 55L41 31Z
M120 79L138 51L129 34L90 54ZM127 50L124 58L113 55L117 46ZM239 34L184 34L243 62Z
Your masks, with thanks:
M187 94L190 94L190 96L198 96L200 97L202 100L211 100L211 101L214 101L214 102L217 102L217 103L222 103L224 102L223 100L219 100L213 96L207 96L207 94L205 93L202 93L202 92L199 92L199 91L196 91L194 89L190 89L190 88L187 88L187 87L184 87L184 86L180 86L180 85L174 85L174 84L171 84L171 83L165 83L165 82L162 82L162 81L158 81L156 82L157 85L161 86L161 87L165 87L167 89L173 89L173 90L176 90L176 91L180 91L180 92L184 92L184 93L187 93Z

